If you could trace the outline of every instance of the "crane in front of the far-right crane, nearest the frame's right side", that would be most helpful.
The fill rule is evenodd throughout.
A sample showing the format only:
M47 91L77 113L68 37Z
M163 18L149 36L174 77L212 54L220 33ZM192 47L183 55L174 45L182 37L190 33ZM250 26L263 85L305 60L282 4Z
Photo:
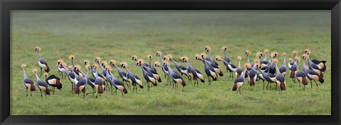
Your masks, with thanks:
M308 54L303 54L302 56L303 56L303 71L310 80L311 88L313 88L312 81L315 82L316 86L318 86L318 83L316 83L316 81L319 81L320 83L324 83L325 81L320 75L318 75L318 73L313 71L313 69L309 69L307 66L305 66L305 60L307 59Z

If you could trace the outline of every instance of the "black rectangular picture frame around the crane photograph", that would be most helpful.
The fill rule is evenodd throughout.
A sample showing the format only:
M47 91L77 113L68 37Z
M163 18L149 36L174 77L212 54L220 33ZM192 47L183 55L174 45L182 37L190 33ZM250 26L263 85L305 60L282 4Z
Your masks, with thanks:
M1 0L1 124L340 124L340 0ZM332 115L330 116L11 116L11 10L331 10Z

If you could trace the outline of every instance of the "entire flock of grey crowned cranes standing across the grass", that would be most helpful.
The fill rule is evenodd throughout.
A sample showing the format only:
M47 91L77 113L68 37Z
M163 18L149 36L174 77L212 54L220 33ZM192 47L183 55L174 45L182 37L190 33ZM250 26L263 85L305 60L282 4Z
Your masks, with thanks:
M38 76L38 69L33 69L33 73L36 76L36 85L40 90L40 95L43 97L43 93L46 95L50 95L50 90L48 85L53 88L53 94L55 93L55 88L61 90L63 88L63 83L55 75L48 76L48 72L50 71L50 67L48 63L43 60L40 56L40 47L36 47L36 52L38 54L38 65L40 66L40 76ZM303 89L305 85L308 85L308 80L310 80L310 86L313 88L313 82L315 82L316 86L318 86L318 82L323 83L323 72L326 70L325 63L326 61L319 61L318 59L310 60L310 49L305 49L304 53L302 54L302 67L303 71L299 70L299 64L301 58L298 56L298 51L293 51L293 59L288 59L288 67L286 62L286 53L283 52L283 65L278 69L278 53L277 52L269 52L268 49L264 50L265 57L261 59L264 54L262 52L256 52L256 59L254 59L254 63L251 64L249 60L249 56L251 52L249 50L245 51L245 56L247 56L247 63L244 64L244 70L241 66L242 56L237 56L238 65L232 64L232 61L227 56L227 47L222 47L224 51L224 59L222 56L217 55L215 59L212 58L210 55L211 48L209 46L205 47L206 52L202 52L201 54L195 54L195 59L198 61L202 61L205 69L205 74L207 76L208 84L210 85L212 81L218 81L219 77L224 76L222 71L222 66L220 66L217 61L220 61L226 67L227 73L229 74L229 81L232 78L234 79L234 84L232 86L233 91L237 91L237 93L241 94L242 85L245 83L245 79L248 79L248 84L252 87L256 84L256 81L262 81L263 89L265 88L265 81L267 81L266 88L268 88L271 83L276 84L276 90L278 88L279 93L282 90L286 90L286 72L287 69L289 70L290 78L294 83L296 83L296 79L298 81L298 85L301 90L301 84L303 85ZM208 55L208 56L207 56ZM143 59L138 59L137 56L132 56L131 59L136 61L136 66L141 67L141 71L144 76L144 80L146 81L146 85L148 91L150 90L151 86L157 86L158 83L161 83L161 76L156 70L156 67L159 67L163 71L164 78L166 79L166 85L172 84L173 88L177 89L178 85L182 85L183 88L188 85L188 83L193 83L194 86L199 85L199 81L201 83L205 83L205 75L202 74L198 69L195 69L190 63L188 62L188 56L181 56L180 62L185 64L182 66L178 64L176 59L173 59L171 54L167 54L166 56L162 57L162 52L157 51L156 56L159 57L161 63L159 61L155 61L152 64L153 56L152 54L148 54L148 64L144 62ZM267 57L269 56L269 59ZM143 80L136 76L134 73L129 71L128 63L122 61L117 66L117 63L114 59L110 60L109 64L107 61L102 61L100 57L95 57L94 61L96 63L90 65L90 60L85 60L84 65L86 68L86 73L81 71L80 65L75 65L74 55L70 55L69 59L72 65L67 66L63 59L59 59L57 63L58 73L61 73L61 77L67 77L71 83L72 92L76 94L83 94L85 97L85 88L87 85L90 85L92 88L92 94L97 93L96 97L99 97L104 93L106 88L111 90L111 93L116 93L117 90L121 92L122 95L124 93L128 93L128 89L132 88L132 92L137 93L138 86L139 88L143 89L144 84ZM305 61L308 60L308 66L306 66ZM172 68L169 64L173 62L175 69ZM36 91L36 86L28 76L26 76L26 64L21 64L23 68L23 83L26 87L26 96L28 96L28 90ZM115 78L112 74L112 68L117 69L117 73L120 78ZM121 69L122 68L122 69ZM98 70L100 69L100 72ZM44 70L44 71L43 71ZM125 72L125 71L126 72ZM178 72L177 72L178 71ZM90 73L91 72L91 73ZM45 81L40 80L40 77L43 73L45 76ZM90 73L90 75L89 75ZM183 76L188 78L188 83L184 80ZM91 77L92 76L92 77ZM126 84L124 84L126 83ZM114 88L113 88L114 86Z

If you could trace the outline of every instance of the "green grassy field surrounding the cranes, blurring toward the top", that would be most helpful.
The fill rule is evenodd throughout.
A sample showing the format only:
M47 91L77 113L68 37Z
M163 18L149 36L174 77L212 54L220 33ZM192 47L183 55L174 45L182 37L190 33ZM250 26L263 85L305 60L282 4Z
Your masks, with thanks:
M330 11L11 11L11 14L11 115L331 114ZM252 88L244 83L242 95L232 92L233 81L227 81L226 68L218 62L224 71L219 81L212 85L200 83L198 88L188 83L184 92L172 85L164 86L166 79L158 68L163 82L149 92L146 87L138 93L128 90L122 97L120 93L115 96L105 91L101 98L87 95L84 100L71 91L70 81L62 78L63 88L56 89L55 95L40 97L37 88L32 97L26 97L21 64L28 65L26 73L36 83L31 71L39 68L34 51L37 45L51 68L50 74L58 72L58 59L71 64L70 54L76 56L75 64L82 65L82 71L85 59L94 63L95 56L100 56L104 61L128 62L128 69L145 86L141 68L131 60L132 55L146 60L147 54L153 54L153 61L160 61L155 56L158 50L163 55L173 54L175 59L189 56L188 62L205 74L202 62L194 58L195 54L205 52L205 45L212 47L212 56L224 56L221 47L226 45L227 55L235 65L237 56L243 57L242 65L247 61L246 49L251 50L253 62L255 53L264 49L286 52L292 57L293 50L298 50L301 56L308 47L312 59L327 61L327 71L325 83L319 83L319 88L314 83L313 89L309 83L305 90L299 90L287 72L287 88L281 95L274 90L274 84L263 90L261 81ZM283 56L278 56L278 60L282 65ZM173 63L171 66L175 69ZM116 69L112 73L119 78ZM185 81L188 82L187 77ZM91 92L90 85L87 92Z

